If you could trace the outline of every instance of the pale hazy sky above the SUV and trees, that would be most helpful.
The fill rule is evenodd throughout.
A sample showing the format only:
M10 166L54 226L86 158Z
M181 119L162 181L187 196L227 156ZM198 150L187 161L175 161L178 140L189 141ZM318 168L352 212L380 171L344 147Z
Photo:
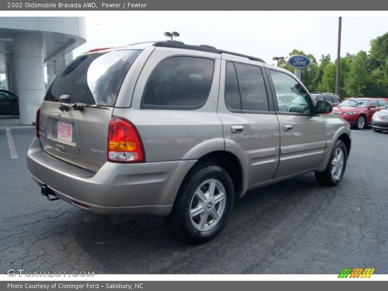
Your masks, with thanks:
M306 12L308 14L308 12ZM86 17L87 42L73 51L75 58L89 49L167 39L177 31L186 44L211 45L259 57L275 64L274 56L292 49L337 57L338 17L263 16L255 12L160 12L116 17ZM388 32L388 17L342 17L341 56L369 51L370 41Z

